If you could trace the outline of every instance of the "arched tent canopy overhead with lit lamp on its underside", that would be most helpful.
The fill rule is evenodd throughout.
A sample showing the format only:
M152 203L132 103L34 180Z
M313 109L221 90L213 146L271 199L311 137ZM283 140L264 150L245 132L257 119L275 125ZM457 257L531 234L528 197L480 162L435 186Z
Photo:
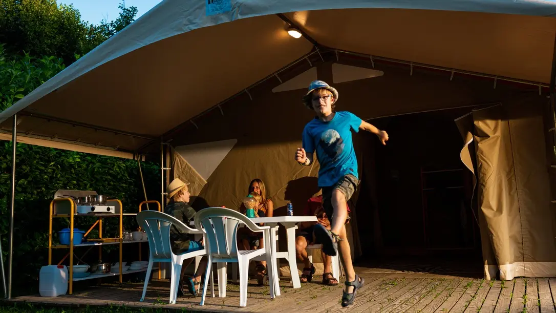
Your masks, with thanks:
M144 152L324 51L547 86L554 16L550 1L231 0L207 16L205 2L164 0L1 112L0 128L18 113L24 138ZM289 36L290 22L306 36Z

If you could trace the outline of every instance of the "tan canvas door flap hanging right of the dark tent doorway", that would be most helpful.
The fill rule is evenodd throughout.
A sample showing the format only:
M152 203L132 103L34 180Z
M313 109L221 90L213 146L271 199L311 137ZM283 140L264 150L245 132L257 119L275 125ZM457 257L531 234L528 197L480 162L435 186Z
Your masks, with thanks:
M496 105L458 118L474 175L485 279L556 275L540 106Z

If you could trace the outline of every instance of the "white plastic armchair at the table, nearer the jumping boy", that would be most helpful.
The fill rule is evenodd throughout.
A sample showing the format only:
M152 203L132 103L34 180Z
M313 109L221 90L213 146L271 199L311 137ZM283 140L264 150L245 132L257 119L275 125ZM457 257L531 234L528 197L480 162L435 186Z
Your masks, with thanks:
M209 260L206 272L210 272L212 262L219 264L219 295L225 297L226 284L221 280L226 280L225 266L227 262L237 262L240 268L240 306L247 305L247 277L249 275L249 261L256 256L266 254L266 261L269 266L269 273L274 269L272 262L272 249L270 244L270 227L256 225L249 217L240 212L222 207L203 208L195 215L195 227L205 232L205 248ZM263 232L265 249L259 250L237 250L236 233L239 223L244 223L251 231ZM222 266L222 263L224 263ZM223 275L222 275L223 274ZM274 275L269 275L270 297L275 297ZM205 285L201 297L201 305L205 305L205 295L208 277L205 276Z

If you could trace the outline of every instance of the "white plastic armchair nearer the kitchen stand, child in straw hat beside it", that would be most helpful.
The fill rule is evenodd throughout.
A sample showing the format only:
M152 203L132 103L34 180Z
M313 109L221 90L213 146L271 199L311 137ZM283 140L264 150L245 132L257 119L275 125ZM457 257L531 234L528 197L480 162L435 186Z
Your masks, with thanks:
M145 285L143 285L143 295L141 302L145 300L147 292L148 280L151 277L152 265L154 262L170 262L172 264L172 278L170 284L170 304L176 303L178 281L180 281L181 266L183 260L191 257L202 256L206 254L206 249L185 252L184 254L175 255L172 252L170 245L170 227L176 226L178 230L183 233L203 233L200 230L193 229L182 223L177 218L158 211L141 211L137 213L137 222L147 233L148 249L150 256L148 260L147 274L145 276ZM207 271L205 276L209 277L211 272ZM212 281L212 275L211 281ZM207 281L205 281L207 284ZM205 286L206 287L206 286ZM214 285L213 285L214 295Z

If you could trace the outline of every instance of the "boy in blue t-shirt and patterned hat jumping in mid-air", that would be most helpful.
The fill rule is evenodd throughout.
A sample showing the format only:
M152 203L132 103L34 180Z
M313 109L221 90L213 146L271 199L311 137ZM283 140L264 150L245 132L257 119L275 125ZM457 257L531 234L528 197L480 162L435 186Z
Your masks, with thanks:
M323 81L314 81L309 85L309 92L303 97L305 106L314 110L316 117L303 130L302 148L297 148L295 160L301 165L309 166L314 161L316 151L320 163L319 187L322 188L322 207L331 221L331 230L317 224L315 236L322 243L322 251L330 256L337 254L346 270L346 289L342 296L342 306L353 304L357 290L363 286L365 279L355 274L351 263L351 251L347 242L345 222L347 217L346 202L359 185L357 159L351 131L359 130L374 133L386 145L388 133L361 120L353 113L335 111L338 92Z

